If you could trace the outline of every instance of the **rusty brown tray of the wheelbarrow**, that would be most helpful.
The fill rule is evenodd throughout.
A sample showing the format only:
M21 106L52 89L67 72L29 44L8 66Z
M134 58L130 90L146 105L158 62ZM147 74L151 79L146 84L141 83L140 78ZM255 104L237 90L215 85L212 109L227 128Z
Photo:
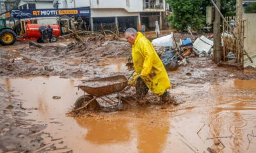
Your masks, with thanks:
M128 84L125 75L116 75L106 78L93 78L86 80L78 87L91 96L104 96L122 91Z

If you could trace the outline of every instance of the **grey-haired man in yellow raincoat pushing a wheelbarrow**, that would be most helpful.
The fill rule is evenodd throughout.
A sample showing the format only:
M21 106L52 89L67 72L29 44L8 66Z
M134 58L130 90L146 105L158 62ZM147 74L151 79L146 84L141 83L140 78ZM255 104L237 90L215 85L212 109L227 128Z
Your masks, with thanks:
M154 50L152 43L133 28L125 31L125 38L132 45L132 60L138 99L146 96L148 89L161 96L164 102L171 101L167 89L171 88L170 80L163 62Z

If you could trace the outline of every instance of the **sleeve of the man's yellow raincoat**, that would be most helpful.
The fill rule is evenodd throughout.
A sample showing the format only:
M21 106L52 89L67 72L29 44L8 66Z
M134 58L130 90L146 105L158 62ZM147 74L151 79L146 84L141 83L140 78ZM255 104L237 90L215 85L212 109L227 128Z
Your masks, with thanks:
M151 45L148 41L141 41L141 52L145 57L143 63L143 69L141 71L141 76L145 77L149 75L154 60L154 50L151 48Z

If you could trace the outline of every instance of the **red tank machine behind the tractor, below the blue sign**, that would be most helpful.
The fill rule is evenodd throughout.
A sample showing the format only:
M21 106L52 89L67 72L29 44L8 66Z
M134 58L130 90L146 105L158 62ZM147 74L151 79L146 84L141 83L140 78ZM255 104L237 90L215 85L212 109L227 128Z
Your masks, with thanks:
M21 36L18 40L36 40L40 42L41 40L41 33L39 32L39 27L41 26L47 26L47 25L41 25L41 24L31 24L30 21L25 21L24 24L26 25L25 28L25 34ZM60 36L60 26L59 25L51 25L51 28L53 29L53 36L52 41L56 42L58 40L58 37Z

